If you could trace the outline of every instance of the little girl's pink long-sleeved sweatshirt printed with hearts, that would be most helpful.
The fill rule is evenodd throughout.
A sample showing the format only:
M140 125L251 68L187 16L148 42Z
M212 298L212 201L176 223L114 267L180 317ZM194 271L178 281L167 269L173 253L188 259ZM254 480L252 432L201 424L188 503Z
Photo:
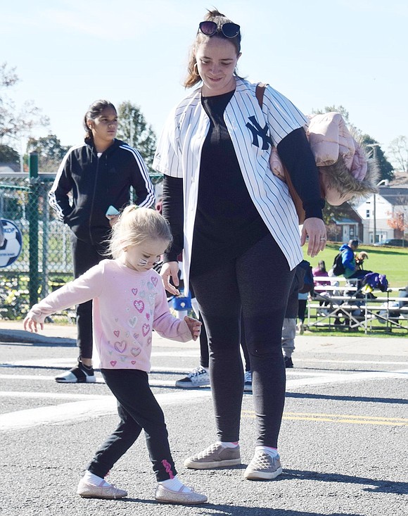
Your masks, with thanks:
M84 275L46 296L28 314L47 315L93 299L94 345L103 369L151 369L152 329L186 342L186 322L173 317L162 279L155 270L136 272L119 260L103 260Z

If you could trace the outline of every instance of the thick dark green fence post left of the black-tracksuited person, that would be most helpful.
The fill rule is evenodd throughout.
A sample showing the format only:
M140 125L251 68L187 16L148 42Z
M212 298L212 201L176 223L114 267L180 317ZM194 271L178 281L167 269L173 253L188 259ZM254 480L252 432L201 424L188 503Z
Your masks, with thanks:
M28 222L29 222L29 284L30 306L38 303L39 273L38 273L38 154L30 152L30 193L28 195Z

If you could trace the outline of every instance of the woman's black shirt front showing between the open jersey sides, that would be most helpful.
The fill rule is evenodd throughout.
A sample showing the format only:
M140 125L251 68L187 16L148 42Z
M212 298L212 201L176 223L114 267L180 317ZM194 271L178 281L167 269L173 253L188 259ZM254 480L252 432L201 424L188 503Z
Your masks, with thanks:
M224 122L233 94L201 98L210 129L201 152L192 276L236 258L269 232L250 199Z

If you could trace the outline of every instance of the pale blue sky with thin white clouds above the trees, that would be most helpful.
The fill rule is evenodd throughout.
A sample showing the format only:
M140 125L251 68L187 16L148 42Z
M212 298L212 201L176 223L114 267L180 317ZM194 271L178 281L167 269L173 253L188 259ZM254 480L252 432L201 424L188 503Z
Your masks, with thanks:
M0 63L21 80L9 93L42 108L64 145L82 141L84 112L101 98L136 103L159 133L213 5L241 25L241 75L304 113L344 106L384 151L408 134L406 0L3 0Z

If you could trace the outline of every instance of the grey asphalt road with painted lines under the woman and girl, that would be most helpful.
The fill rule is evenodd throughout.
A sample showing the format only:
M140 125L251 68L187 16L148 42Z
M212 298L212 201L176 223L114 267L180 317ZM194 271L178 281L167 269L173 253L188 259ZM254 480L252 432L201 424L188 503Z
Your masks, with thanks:
M287 370L279 451L284 472L243 480L255 416L245 394L243 465L193 471L184 458L215 441L210 389L175 389L198 365L198 345L153 339L151 386L165 410L179 476L209 503L161 505L143 436L109 480L120 501L75 494L96 447L115 428L115 399L101 381L56 384L75 363L75 327L29 336L0 321L0 516L402 516L408 514L408 339L297 337ZM64 338L60 338L64 337Z

